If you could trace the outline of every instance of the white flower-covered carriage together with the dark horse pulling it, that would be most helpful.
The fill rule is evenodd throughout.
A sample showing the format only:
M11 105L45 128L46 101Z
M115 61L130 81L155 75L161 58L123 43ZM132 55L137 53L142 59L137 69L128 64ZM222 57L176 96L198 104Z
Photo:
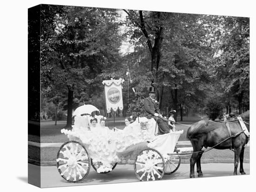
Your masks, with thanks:
M90 116L78 115L74 119L72 130L61 130L67 135L69 141L60 147L57 154L57 168L61 177L76 183L87 177L91 166L98 173L109 173L118 163L133 163L135 175L139 180L158 180L162 179L164 174L174 173L179 168L182 155L192 154L190 177L195 177L195 162L198 176L202 176L200 159L203 152L212 148L233 148L235 150L234 174L236 174L239 155L240 172L245 174L243 149L249 139L247 136L249 135L249 123L243 120L249 120L249 111L241 116L243 119L238 117L237 120L226 122L226 124L212 121L194 123L187 132L193 149L192 147L180 148L180 151L177 151L175 145L183 130L157 135L158 126L153 118L137 118L131 124L131 128L126 130L114 131L108 128L88 130ZM215 137L209 137L210 134L215 134ZM211 139L211 144L208 143L209 139ZM202 147L210 148L201 150Z

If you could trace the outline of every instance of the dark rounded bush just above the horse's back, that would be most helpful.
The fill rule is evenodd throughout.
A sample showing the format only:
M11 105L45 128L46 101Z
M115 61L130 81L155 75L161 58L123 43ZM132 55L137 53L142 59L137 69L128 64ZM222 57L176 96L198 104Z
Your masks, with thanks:
M215 120L222 114L222 103L217 101L209 101L206 105L206 110L209 119Z

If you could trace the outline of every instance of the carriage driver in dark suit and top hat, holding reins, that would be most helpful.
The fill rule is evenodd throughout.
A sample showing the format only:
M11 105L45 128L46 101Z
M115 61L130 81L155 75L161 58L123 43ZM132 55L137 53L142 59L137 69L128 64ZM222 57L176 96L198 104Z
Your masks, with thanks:
M166 134L169 133L171 128L168 126L168 122L162 120L160 117L160 110L157 106L157 101L155 100L155 87L149 88L149 96L144 99L144 110L145 116L148 119L154 118L158 124L158 134Z

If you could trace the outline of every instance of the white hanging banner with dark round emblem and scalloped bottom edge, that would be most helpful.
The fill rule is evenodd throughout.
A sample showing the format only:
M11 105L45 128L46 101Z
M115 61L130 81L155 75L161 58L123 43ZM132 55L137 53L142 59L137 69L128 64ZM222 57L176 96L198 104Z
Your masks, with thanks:
M111 109L116 111L117 109L123 109L123 97L122 97L122 83L123 79L104 80L102 82L105 85L105 99L107 113L111 112Z

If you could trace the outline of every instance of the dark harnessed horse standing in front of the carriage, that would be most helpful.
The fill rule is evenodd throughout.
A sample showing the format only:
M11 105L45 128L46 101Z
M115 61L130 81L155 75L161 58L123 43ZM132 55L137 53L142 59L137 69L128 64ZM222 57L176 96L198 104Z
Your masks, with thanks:
M245 125L249 131L249 110L240 115L245 122ZM226 123L228 125L226 125ZM240 173L245 174L243 170L243 154L244 148L249 137L244 134L242 127L235 118L234 120L227 120L227 122L214 122L210 120L201 120L192 124L187 131L187 138L192 144L193 154L190 158L190 178L195 178L195 163L196 163L196 172L198 177L202 177L201 170L201 157L203 154L202 147L214 147L221 141L227 139L230 135L237 134L237 136L228 139L227 141L222 142L220 145L217 145L216 149L232 149L235 152L234 159L234 175L237 175L238 161L240 159ZM198 153L196 153L198 152Z

